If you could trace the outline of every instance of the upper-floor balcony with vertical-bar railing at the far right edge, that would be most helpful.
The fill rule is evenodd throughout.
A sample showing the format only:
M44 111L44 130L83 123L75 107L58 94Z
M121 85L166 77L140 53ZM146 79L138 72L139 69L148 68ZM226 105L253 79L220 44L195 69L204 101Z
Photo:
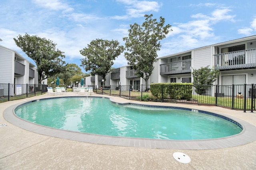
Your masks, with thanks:
M256 68L256 49L216 54L214 63L214 68L219 70Z

